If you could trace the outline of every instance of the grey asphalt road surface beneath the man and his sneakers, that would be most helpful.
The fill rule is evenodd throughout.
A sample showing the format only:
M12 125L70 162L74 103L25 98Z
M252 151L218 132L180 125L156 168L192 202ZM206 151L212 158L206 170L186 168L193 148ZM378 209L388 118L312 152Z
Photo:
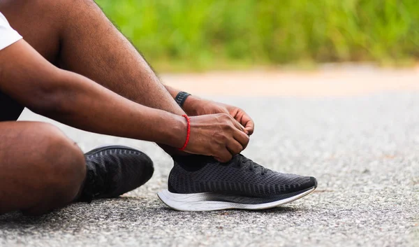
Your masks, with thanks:
M267 211L172 211L156 197L172 161L154 144L59 125L86 151L103 143L144 150L154 177L119 199L0 216L0 246L419 246L419 92L218 99L256 122L244 155L316 176L316 192Z

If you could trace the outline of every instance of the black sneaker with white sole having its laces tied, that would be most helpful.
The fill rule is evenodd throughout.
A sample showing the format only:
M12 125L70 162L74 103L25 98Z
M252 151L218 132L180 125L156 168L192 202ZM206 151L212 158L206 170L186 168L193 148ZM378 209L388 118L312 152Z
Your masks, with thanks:
M316 178L281 174L235 155L220 163L212 157L173 157L168 190L159 198L179 211L269 209L309 195Z

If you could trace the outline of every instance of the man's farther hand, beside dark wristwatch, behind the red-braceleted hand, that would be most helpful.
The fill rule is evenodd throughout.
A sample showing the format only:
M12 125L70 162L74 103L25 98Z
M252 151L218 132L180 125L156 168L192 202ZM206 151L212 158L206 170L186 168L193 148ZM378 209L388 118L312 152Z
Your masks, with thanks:
M188 115L228 113L235 120L237 120L237 122L240 122L240 124L244 127L244 133L249 136L253 134L253 130L255 128L255 124L250 116L241 108L236 106L230 106L228 104L218 103L207 99L200 99L191 95L186 99L183 108Z

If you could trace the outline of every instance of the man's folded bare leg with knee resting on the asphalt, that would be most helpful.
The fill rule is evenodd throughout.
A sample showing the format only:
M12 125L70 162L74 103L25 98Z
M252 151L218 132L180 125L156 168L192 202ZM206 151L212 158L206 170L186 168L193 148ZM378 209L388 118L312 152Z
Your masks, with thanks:
M57 127L0 122L0 214L38 215L73 202L86 176L80 148Z

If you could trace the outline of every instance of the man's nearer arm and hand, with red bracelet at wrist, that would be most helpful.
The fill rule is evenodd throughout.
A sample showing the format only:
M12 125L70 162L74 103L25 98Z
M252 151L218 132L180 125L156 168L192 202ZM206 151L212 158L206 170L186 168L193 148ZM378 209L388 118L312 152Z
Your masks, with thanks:
M36 113L90 132L177 148L186 139L182 116L135 104L84 76L58 69L23 40L0 51L0 90ZM227 117L191 119L186 151L223 161L240 153L249 139ZM219 137L217 141L214 136Z

